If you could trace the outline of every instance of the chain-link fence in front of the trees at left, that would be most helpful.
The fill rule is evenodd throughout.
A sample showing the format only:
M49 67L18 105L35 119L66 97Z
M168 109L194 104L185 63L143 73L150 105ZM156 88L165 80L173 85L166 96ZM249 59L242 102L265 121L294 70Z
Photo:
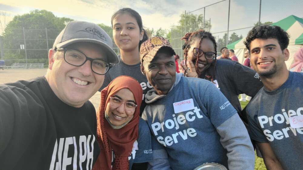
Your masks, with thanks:
M61 30L55 29L2 29L0 59L6 66L13 63L44 63L48 66L48 50ZM119 53L114 44L114 50Z

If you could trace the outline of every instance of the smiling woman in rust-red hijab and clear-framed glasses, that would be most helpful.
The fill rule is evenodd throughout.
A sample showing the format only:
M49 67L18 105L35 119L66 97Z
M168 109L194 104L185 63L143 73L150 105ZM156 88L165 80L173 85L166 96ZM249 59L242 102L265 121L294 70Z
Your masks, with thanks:
M115 78L101 91L97 111L100 154L93 169L127 170L152 160L151 136L139 116L142 87L129 76Z

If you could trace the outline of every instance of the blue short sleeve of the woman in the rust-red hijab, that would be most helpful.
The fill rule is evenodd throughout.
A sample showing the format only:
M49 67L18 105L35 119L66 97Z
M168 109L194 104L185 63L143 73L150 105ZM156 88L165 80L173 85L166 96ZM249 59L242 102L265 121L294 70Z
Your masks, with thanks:
M151 133L147 123L140 118L138 151L136 152L134 163L149 162L152 160Z

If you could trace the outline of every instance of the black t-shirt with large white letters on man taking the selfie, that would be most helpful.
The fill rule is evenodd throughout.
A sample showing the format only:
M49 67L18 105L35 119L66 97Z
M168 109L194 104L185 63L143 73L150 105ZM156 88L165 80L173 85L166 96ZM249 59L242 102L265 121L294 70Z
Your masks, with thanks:
M90 101L69 106L39 77L0 85L0 110L0 169L92 169L100 150Z

